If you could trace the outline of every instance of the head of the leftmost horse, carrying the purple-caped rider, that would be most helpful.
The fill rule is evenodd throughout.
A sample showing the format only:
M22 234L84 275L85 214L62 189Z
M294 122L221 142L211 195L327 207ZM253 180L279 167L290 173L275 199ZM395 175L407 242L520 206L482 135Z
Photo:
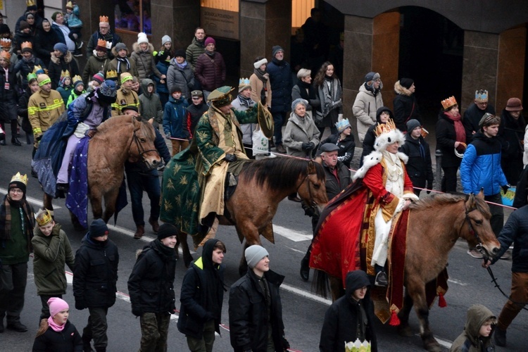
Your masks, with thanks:
M134 117L132 117L132 125L134 125L134 134L130 141L128 161L130 163L142 161L149 170L158 167L161 158L156 146L154 146L154 139L156 139L154 127L147 122L140 122Z

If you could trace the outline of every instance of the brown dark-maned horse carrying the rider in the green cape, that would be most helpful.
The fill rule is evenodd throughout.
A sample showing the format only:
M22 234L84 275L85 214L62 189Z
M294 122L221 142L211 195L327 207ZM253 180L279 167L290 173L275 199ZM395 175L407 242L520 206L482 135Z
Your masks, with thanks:
M328 203L325 170L319 163L297 158L265 158L251 161L241 170L237 188L225 202L227 216L218 217L221 225L234 225L240 242L246 239L244 250L252 244L261 244L260 234L274 243L272 220L277 206L286 196L297 192L308 207L322 210ZM185 266L192 257L187 235L180 233ZM240 275L247 271L242 255Z

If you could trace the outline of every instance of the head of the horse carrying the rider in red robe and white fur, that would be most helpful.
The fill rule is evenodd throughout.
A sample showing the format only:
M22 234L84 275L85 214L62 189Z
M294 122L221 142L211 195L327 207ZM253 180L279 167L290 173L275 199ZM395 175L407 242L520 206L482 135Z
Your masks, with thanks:
M465 201L465 222L460 237L465 238L470 246L474 246L481 251L486 257L496 256L501 244L498 243L497 238L489 220L491 213L489 206L484 201L484 191L481 189L479 194L475 196L470 194Z

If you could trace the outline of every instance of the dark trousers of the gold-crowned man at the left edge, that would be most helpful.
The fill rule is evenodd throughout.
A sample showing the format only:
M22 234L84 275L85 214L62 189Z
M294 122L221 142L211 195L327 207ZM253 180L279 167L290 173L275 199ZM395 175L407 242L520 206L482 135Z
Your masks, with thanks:
M4 264L0 268L0 319L7 315L7 323L20 322L24 308L25 286L27 283L27 262Z

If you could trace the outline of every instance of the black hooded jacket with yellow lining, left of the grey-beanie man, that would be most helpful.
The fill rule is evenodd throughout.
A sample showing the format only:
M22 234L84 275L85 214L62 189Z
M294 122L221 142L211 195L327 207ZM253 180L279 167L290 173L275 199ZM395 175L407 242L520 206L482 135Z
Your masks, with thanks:
M186 336L201 339L203 336L203 324L209 320L215 321L215 331L220 334L221 316L214 316L209 307L207 292L215 291L215 298L222 313L222 302L224 300L224 264L213 263L213 249L218 239L206 241L203 245L202 256L187 269L182 282L180 293L180 318L178 319L178 331ZM208 272L215 272L208 275ZM214 277L214 280L211 280Z

